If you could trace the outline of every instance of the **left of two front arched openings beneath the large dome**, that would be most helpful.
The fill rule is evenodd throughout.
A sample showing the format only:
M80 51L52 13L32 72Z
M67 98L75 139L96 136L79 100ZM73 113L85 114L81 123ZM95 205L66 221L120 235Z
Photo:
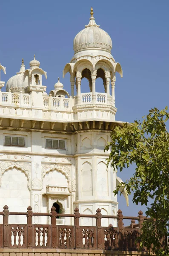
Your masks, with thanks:
M83 79L83 78L86 78L86 79ZM92 92L92 77L91 77L90 70L86 68L82 71L81 93L89 93L89 92Z

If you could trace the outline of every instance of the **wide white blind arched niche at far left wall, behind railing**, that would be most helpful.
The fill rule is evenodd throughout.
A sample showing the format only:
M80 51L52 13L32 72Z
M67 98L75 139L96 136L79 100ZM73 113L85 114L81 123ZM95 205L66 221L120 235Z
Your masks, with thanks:
M15 167L6 170L1 177L0 211L6 204L10 212L26 212L30 205L28 179L24 172ZM9 223L26 224L26 216L10 215Z

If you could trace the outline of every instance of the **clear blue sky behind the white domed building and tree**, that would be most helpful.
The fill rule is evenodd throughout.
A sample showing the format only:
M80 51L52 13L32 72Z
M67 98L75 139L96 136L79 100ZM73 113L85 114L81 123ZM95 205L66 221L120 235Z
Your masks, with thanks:
M132 122L150 108L169 105L169 0L57 1L6 0L0 3L0 63L6 67L7 81L20 70L22 58L26 68L33 55L47 71L43 78L47 92L54 88L57 77L70 92L69 75L62 71L74 55L73 39L89 23L90 8L100 28L112 38L112 55L123 68L123 79L117 74L115 97L116 119ZM88 91L83 82L84 90ZM98 83L97 91L103 91ZM126 180L134 167L118 174ZM144 206L119 198L124 215L145 212Z

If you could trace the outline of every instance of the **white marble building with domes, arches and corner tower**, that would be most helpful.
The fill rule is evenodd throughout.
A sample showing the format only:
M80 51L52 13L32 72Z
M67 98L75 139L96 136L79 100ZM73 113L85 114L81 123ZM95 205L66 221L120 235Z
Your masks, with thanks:
M0 91L0 211L7 204L10 211L26 212L31 205L33 212L50 212L54 204L62 213L78 207L82 214L95 214L99 207L104 215L117 214L113 190L120 180L106 166L109 152L103 150L117 123L115 73L122 77L111 49L112 40L95 23L91 9L89 24L75 36L74 56L63 70L63 77L70 73L71 96L60 81L47 95L47 75L35 56L28 69L22 61L20 71L6 82L6 92ZM0 70L6 73L2 65ZM96 91L98 77L105 93ZM83 78L89 81L89 93L80 92ZM0 88L4 85L0 81ZM34 223L42 221L49 220L34 217ZM69 218L59 221L71 224ZM9 222L23 223L26 217L10 216ZM81 224L91 225L92 219Z

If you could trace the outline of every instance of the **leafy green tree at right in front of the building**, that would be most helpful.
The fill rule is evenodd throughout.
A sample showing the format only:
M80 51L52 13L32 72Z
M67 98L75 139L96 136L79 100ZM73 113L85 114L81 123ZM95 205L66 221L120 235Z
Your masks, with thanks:
M142 122L124 123L116 126L111 133L112 142L105 150L111 150L108 164L120 169L136 165L135 174L121 183L114 191L125 186L133 202L147 205L149 198L153 203L147 207L141 236L141 246L157 255L169 255L169 248L160 246L162 239L169 235L169 132L166 121L169 119L167 107L159 111L149 111ZM126 169L124 169L126 171Z

